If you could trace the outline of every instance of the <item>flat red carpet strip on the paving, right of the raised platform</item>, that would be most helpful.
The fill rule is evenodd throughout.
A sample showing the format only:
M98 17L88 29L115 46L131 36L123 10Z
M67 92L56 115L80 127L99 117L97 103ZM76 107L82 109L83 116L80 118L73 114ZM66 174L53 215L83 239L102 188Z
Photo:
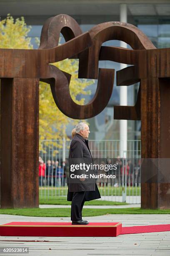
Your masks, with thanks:
M170 231L170 224L124 227L122 228L121 235L163 231Z

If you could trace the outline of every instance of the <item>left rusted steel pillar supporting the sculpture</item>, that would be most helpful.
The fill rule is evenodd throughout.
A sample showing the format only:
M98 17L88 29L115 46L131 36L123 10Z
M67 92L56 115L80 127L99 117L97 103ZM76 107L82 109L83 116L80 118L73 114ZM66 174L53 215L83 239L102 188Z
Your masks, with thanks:
M0 207L38 207L39 79L0 82Z

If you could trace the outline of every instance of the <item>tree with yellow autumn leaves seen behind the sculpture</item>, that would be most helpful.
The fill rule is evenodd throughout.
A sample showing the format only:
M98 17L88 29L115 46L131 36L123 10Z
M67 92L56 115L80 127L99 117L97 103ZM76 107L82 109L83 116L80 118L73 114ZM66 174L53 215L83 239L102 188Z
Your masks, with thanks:
M23 17L14 20L8 14L6 19L0 21L0 48L32 49L31 38L28 37L30 29ZM85 89L94 81L78 79L78 60L65 59L53 65L72 75L69 87L72 100L80 105L84 104L84 98L77 100L76 97L90 94L90 90ZM75 124L75 120L68 118L57 108L50 85L40 82L40 140L66 137L65 127L69 123Z

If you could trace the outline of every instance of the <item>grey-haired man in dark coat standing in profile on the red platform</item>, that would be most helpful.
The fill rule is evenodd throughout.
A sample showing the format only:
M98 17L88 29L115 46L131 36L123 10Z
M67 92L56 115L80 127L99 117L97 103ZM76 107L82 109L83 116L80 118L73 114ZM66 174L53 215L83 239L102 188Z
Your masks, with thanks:
M88 146L89 127L85 123L78 123L75 126L75 136L70 143L69 166L75 164L93 164L92 155ZM93 171L92 171L93 172ZM91 172L91 173L92 173ZM70 170L71 174L71 170ZM86 174L85 169L77 169L75 174ZM89 175L89 174L87 174ZM71 204L71 220L73 225L87 225L86 220L82 220L82 207L85 201L101 198L100 192L95 184L95 179L81 177L75 183L69 179L67 201Z

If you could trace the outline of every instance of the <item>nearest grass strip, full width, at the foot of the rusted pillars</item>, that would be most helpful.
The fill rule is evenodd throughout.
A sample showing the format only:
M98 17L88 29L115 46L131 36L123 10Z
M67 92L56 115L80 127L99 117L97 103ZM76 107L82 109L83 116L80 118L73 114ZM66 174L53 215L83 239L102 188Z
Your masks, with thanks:
M90 216L99 216L99 215L107 215L107 214L170 214L170 210L143 210L140 208L84 209L82 213L83 213L83 216L90 217ZM35 216L35 217L70 217L70 208L0 209L0 214Z

